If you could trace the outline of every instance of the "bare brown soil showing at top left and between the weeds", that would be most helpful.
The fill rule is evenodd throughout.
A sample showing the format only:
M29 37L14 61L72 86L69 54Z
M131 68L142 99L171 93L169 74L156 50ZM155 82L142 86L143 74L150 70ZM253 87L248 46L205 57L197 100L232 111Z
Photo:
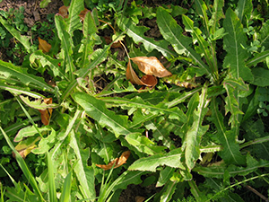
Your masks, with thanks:
M47 21L47 15L49 13L58 13L59 7L63 5L62 1L52 0L51 3L48 4L45 8L40 8L39 3L41 0L3 0L0 3L0 10L8 11L10 8L19 9L21 6L24 7L24 22L28 27L32 27L36 22L44 22ZM149 2L148 4L152 4L153 2ZM150 23L150 22L146 22ZM155 25L150 24L150 26L154 29ZM156 34L156 31L151 31L152 34ZM157 32L158 33L158 32ZM150 35L150 33L149 33ZM156 37L153 36L152 37ZM115 50L118 51L118 50ZM123 51L124 54L124 51ZM124 57L124 56L123 56ZM4 49L0 49L0 59L4 61L10 61L10 57L6 57L4 55ZM129 185L127 189L123 190L118 202L143 202L143 198L152 196L155 194L157 189L154 186L150 186L149 188L143 188L140 185Z

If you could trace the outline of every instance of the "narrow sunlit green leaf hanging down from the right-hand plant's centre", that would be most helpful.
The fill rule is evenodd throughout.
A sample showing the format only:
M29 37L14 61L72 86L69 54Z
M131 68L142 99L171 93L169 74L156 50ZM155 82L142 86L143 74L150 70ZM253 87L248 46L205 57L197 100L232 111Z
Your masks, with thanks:
M198 109L194 111L194 122L192 127L187 131L185 141L185 158L186 164L189 170L192 170L195 167L195 162L200 156L200 143L202 136L208 130L209 125L202 126L204 116L207 112L207 101L206 101L206 87L202 90L202 93L199 98Z

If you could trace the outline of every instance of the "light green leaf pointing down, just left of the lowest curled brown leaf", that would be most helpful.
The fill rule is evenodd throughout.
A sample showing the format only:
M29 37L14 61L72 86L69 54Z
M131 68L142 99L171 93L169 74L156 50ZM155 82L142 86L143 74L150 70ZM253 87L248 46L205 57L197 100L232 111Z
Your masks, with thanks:
M70 138L70 146L74 149L78 161L74 167L74 172L80 182L79 188L84 198L95 198L94 171L92 167L88 166L90 148L80 149L80 145L78 145L74 136L74 130L71 131Z

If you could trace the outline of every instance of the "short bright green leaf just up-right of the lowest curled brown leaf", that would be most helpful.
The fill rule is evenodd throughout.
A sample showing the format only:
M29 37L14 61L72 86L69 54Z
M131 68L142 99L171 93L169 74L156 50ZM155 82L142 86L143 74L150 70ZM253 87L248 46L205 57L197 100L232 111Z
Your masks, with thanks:
M166 147L160 145L154 145L154 143L146 136L141 136L140 133L131 133L126 137L126 141L141 153L145 154L159 154L163 152Z

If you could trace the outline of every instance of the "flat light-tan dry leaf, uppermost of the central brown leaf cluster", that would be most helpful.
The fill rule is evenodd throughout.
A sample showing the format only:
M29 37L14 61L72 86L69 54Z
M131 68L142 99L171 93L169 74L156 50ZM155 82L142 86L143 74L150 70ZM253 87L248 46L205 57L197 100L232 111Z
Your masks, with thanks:
M155 75L157 77L172 75L164 66L162 66L157 57L133 57L130 59L134 61L140 71L145 75Z

